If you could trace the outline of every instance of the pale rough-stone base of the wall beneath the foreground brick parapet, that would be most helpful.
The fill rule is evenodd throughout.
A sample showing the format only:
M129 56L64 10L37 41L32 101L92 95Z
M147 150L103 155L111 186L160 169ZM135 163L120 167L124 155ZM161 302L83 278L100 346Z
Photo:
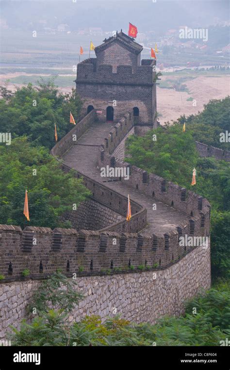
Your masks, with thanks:
M94 314L105 321L106 317L118 314L131 322L155 323L164 315L181 315L185 300L211 286L210 245L207 249L191 250L167 268L130 272L77 276L76 289L84 298L68 320L79 322L85 315ZM5 339L10 325L19 328L26 306L39 285L40 280L31 278L0 283L0 339Z

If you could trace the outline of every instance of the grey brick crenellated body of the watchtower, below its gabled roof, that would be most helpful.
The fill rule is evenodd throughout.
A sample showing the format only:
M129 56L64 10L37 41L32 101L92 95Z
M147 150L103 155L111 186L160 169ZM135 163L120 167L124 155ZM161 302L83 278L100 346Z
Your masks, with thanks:
M116 45L115 48L118 47ZM156 113L156 84L153 82L155 61L142 60L142 65L137 65L136 68L133 68L133 65L137 62L131 62L130 65L128 60L128 65L117 67L112 64L100 64L104 63L106 58L110 60L109 49L100 53L99 60L94 58L96 61L92 62L90 58L78 64L76 90L84 100L83 113L86 114L87 107L92 105L95 109L103 111L102 117L105 120L106 108L113 106L114 120L117 122L126 112L131 112L137 107L139 124L153 125ZM108 56L106 57L104 53L108 53ZM131 53L127 51L127 55L129 54ZM136 55L132 58L135 59ZM119 58L115 63L119 63ZM116 101L116 105L113 101Z

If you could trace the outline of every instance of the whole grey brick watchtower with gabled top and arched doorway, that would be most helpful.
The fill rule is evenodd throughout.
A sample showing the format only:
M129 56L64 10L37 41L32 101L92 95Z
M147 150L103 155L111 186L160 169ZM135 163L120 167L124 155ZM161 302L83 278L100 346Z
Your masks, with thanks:
M122 31L95 48L96 58L78 64L76 91L83 113L102 111L101 121L118 122L132 112L138 125L156 125L155 60Z

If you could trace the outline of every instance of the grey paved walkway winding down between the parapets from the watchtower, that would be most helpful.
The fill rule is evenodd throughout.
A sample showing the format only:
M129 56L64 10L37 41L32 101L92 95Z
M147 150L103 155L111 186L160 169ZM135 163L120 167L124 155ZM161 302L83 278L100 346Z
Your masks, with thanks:
M138 190L126 185L124 181L103 182L105 178L100 176L100 169L98 167L99 145L102 144L104 138L108 137L111 127L108 123L92 125L82 135L77 144L73 145L63 156L66 165L103 183L103 185L118 193L125 196L130 194L132 200L147 208L148 226L145 228L146 232L154 233L157 231L157 234L166 233L178 226L180 222L184 222L188 218L186 214L154 198L143 195ZM152 209L153 203L156 204L157 210Z

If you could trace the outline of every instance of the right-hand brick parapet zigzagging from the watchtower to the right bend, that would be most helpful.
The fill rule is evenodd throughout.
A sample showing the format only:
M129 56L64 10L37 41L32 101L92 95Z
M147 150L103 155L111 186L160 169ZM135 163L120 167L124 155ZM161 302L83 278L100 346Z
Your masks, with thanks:
M104 139L104 143L99 148L99 166L129 167L130 178L121 178L121 181L130 184L131 187L138 189L141 193L151 196L181 212L185 212L188 216L209 217L211 206L207 199L187 191L185 188L167 181L163 177L148 174L147 171L132 166L130 163L116 160L113 152L123 139L122 135L119 135L119 131L124 128L124 137L129 129L133 127L132 121L133 116L131 113L128 113L111 129L110 135Z

